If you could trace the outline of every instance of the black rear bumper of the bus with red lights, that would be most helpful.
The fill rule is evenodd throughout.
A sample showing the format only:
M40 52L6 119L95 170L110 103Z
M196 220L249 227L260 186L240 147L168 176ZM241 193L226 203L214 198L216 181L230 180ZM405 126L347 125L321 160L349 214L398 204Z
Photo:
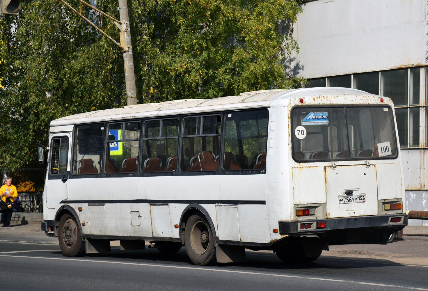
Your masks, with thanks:
M394 219L401 218L399 222ZM392 221L391 221L392 220ZM325 227L323 223L325 222ZM320 233L339 229L375 228L402 229L408 224L406 214L371 215L358 217L324 218L316 220L279 221L279 234L292 235L303 233Z

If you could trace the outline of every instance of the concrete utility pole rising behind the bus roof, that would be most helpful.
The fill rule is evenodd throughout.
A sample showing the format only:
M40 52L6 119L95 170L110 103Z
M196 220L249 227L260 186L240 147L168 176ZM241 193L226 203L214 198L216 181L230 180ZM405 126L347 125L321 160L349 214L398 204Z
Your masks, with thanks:
M135 87L134 58L132 56L131 30L129 27L128 2L119 0L119 17L122 24L126 24L125 45L128 50L123 53L125 66L126 105L137 104L137 89Z

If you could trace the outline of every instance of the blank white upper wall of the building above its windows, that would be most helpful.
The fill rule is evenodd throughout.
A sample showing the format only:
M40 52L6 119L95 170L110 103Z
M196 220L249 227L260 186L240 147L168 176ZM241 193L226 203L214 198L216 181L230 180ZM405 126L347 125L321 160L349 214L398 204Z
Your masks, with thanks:
M300 53L290 71L306 78L428 63L427 0L316 0L294 25Z

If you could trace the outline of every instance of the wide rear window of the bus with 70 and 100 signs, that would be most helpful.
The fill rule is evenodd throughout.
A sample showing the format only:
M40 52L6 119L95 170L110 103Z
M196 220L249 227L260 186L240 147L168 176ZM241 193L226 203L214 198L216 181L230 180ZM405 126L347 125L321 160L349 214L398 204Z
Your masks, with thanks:
M397 157L389 107L298 107L292 119L294 160Z

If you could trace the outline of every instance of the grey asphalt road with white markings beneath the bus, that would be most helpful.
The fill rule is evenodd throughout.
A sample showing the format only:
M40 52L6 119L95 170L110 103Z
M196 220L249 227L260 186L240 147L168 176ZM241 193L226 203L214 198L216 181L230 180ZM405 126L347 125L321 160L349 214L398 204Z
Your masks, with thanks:
M339 251L330 251L315 262L289 266L273 253L247 252L244 264L199 267L190 264L184 247L174 255L164 255L156 249L121 251L113 246L110 253L68 258L60 252L56 239L42 235L31 227L0 229L0 268L10 274L3 276L2 290L428 291L428 260L426 264L397 263L388 253L377 258L370 257L369 252L344 256ZM405 247L406 241L412 240L396 241L395 247L398 244ZM425 242L428 239L422 236L415 247ZM364 245L358 248L366 249ZM376 250L371 252L380 254ZM403 252L401 255L409 251ZM416 257L423 260L428 254L415 254Z

